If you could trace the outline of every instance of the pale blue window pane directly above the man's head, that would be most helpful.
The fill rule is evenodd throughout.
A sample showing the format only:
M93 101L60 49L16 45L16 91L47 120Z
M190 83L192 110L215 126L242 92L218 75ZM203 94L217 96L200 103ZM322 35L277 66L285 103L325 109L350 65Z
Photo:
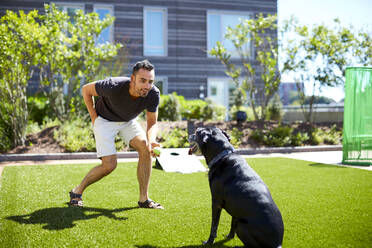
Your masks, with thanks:
M167 10L144 8L143 54L145 56L167 56Z

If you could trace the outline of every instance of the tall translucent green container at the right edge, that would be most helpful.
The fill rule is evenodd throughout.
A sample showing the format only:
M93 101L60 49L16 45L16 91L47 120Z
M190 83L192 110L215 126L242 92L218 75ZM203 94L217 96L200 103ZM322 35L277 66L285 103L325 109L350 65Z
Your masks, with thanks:
M372 67L345 74L342 163L372 165Z

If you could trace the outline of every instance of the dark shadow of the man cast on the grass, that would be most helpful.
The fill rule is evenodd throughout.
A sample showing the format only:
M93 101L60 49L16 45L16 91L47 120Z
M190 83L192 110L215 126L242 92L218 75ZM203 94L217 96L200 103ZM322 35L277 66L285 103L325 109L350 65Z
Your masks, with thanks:
M43 229L47 230L63 230L72 228L76 224L75 221L90 220L100 216L105 216L114 220L126 220L126 217L117 217L115 213L125 212L136 209L138 207L104 209L104 208L89 208L89 207L58 207L44 208L36 210L33 213L25 215L15 215L6 217L8 220L18 222L20 224L45 224Z

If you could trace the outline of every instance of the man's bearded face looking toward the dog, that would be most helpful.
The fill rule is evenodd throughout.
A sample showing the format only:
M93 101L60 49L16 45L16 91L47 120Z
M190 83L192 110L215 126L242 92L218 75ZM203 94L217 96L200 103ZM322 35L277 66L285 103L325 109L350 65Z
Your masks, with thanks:
M134 93L136 96L145 97L154 85L155 72L139 69L137 74L132 75Z

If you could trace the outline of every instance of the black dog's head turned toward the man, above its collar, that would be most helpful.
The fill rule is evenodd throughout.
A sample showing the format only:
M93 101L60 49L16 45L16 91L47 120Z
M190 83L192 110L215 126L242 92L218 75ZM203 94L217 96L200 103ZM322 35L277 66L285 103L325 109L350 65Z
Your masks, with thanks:
M200 127L195 134L190 135L191 144L189 154L202 154L207 163L224 150L232 150L230 137L216 127Z

